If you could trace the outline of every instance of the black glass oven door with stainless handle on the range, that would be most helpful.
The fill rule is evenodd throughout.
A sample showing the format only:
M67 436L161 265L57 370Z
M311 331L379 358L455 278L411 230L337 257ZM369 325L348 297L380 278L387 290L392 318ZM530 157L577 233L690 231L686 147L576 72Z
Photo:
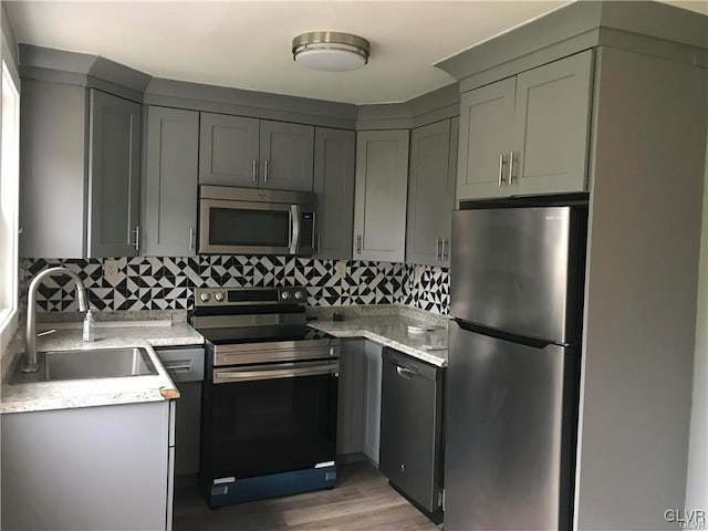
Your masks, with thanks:
M210 483L333 464L339 361L214 368L205 451Z

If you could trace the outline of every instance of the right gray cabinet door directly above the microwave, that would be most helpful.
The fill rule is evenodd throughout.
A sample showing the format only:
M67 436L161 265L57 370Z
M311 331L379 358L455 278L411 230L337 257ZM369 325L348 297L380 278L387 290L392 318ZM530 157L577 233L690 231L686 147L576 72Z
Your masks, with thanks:
M312 191L314 127L261 121L260 187Z

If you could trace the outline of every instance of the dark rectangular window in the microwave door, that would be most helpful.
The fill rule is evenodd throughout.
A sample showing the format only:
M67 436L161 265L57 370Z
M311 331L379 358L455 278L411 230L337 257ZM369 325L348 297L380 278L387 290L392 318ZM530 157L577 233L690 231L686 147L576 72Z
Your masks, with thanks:
M209 209L209 244L288 247L290 212L212 207Z

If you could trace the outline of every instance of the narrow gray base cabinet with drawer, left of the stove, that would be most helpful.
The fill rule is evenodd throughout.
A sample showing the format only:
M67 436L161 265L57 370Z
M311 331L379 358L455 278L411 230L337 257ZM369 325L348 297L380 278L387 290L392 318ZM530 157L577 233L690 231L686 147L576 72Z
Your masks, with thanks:
M202 346L181 346L155 352L179 391L175 400L175 476L194 476L199 472L205 351Z

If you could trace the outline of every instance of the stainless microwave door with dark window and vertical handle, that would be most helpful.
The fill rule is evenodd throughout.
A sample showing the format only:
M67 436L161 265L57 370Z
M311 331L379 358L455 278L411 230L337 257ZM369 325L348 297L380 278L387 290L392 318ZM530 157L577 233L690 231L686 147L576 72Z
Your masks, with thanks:
M300 205L199 200L199 252L298 254Z

